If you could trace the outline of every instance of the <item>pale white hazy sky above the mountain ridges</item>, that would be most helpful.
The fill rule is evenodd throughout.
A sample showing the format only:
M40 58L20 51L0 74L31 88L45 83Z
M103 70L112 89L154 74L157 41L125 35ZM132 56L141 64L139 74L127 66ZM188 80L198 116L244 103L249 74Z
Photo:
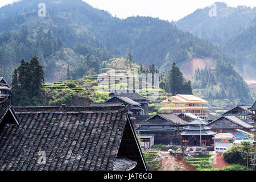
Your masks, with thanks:
M0 0L0 7L15 0ZM32 1L32 0L31 0ZM72 1L72 0L71 0ZM128 16L152 16L165 20L178 20L196 9L212 5L221 0L83 0L93 7L109 11L118 18ZM256 7L256 0L222 0L229 6L246 5Z

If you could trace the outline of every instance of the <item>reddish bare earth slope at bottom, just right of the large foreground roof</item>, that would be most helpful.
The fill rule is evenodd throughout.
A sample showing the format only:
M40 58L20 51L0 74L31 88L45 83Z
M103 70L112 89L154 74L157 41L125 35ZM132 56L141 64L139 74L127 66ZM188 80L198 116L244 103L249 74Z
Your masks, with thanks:
M163 159L160 159L162 166L160 171L196 171L195 167L188 165L185 159L178 159L169 152L160 152Z

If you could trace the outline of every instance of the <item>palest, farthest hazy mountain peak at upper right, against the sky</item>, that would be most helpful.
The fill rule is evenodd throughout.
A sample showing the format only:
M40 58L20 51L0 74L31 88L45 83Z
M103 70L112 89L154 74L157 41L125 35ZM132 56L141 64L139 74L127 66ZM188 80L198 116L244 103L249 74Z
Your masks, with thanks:
M175 24L183 31L191 32L214 44L220 44L231 36L250 26L255 18L256 8L246 6L229 7L226 3L216 2L216 16L209 16L213 6L198 9L178 20Z

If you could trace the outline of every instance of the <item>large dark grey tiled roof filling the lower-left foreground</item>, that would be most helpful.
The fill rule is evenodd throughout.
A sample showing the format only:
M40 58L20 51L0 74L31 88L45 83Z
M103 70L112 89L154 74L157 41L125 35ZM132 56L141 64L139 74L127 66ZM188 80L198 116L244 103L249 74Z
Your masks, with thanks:
M105 171L121 169L120 164L126 169L135 164L130 161L134 156L142 159L134 160L137 166L144 166L124 106L14 107L14 110L20 125L6 125L0 130L0 170ZM127 161L119 159L127 157L121 150L126 144L122 144L124 137L137 147L132 151L136 155L130 154ZM38 163L40 151L46 152L44 165Z

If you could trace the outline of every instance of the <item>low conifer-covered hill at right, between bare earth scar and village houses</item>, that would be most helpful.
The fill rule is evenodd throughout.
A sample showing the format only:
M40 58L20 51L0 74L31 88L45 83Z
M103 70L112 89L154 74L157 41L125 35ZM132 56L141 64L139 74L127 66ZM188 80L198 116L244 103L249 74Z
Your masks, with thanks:
M229 100L232 105L250 105L253 96L248 85L230 63L218 60L214 69L197 69L192 77L197 96L207 100Z

